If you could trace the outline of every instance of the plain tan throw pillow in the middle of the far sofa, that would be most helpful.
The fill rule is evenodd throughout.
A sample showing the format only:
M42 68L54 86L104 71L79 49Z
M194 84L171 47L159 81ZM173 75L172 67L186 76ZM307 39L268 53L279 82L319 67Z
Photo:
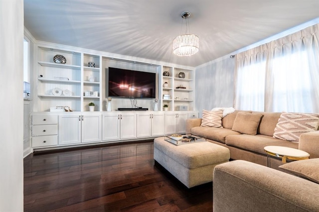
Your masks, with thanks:
M238 112L232 130L242 134L256 135L263 114Z

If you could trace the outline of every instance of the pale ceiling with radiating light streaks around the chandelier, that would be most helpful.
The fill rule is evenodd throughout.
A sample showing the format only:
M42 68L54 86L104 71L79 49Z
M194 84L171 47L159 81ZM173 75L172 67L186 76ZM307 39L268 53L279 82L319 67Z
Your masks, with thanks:
M172 53L183 11L200 38L189 57ZM318 17L319 0L24 0L36 40L193 67Z

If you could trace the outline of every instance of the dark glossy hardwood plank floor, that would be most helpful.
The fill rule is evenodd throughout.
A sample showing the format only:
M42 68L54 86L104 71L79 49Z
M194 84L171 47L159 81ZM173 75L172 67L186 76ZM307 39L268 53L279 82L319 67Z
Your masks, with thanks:
M212 211L212 183L187 189L153 159L153 141L24 159L24 211Z

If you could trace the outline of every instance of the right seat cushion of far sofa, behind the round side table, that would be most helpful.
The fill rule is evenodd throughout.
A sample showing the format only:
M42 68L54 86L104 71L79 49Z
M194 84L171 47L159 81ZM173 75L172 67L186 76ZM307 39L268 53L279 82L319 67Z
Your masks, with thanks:
M234 146L240 149L245 149L252 152L258 152L266 155L265 146L286 146L298 149L297 143L273 138L268 135L228 135L225 143L229 146Z

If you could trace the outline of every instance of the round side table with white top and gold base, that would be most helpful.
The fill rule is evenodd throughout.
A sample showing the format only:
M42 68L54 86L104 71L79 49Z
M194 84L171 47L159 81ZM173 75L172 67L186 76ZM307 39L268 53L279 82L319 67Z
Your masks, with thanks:
M310 154L303 150L294 149L285 146L265 146L265 152L267 153L267 166L270 167L270 157L282 158L282 162L286 163L286 160L304 160L309 159Z

